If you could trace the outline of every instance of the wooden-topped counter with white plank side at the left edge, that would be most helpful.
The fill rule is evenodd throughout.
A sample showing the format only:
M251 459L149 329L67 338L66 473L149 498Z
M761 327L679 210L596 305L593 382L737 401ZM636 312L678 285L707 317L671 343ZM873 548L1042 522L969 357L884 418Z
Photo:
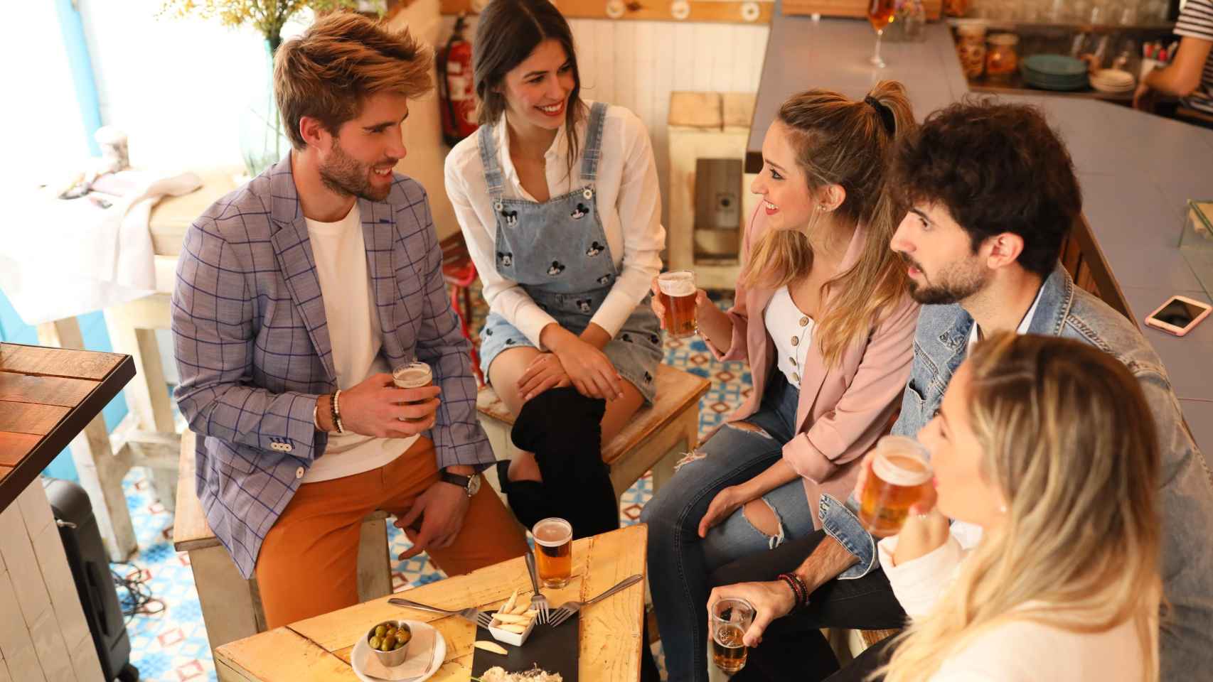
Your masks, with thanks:
M38 475L133 376L127 355L0 344L0 680L103 677Z

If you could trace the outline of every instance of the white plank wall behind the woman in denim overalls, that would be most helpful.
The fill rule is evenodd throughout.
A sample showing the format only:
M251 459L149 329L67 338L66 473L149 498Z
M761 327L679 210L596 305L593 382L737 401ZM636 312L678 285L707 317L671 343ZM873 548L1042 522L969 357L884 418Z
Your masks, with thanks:
M475 17L468 22L471 39ZM444 16L443 23L442 35L450 35L455 18ZM765 24L706 22L570 19L569 25L585 97L627 107L648 126L662 197L670 195L670 93L757 92L770 33Z

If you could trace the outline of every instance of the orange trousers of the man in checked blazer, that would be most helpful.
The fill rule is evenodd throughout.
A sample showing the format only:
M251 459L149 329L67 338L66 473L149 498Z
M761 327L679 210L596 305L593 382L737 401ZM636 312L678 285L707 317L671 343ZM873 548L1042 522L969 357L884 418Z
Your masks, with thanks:
M422 437L378 469L300 486L257 557L266 625L278 627L358 603L363 518L377 509L404 516L435 481L434 445ZM405 534L416 538L414 529ZM456 575L525 551L525 533L485 483L472 498L459 538L428 554L448 575Z

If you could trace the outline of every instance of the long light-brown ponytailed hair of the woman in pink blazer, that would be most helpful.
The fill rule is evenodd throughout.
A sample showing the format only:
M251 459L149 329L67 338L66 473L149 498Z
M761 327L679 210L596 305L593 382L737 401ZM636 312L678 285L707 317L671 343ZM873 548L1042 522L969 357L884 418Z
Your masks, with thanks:
M913 110L905 87L892 80L876 84L867 99L809 90L784 102L778 114L791 133L809 194L842 185L845 199L833 211L836 220L867 229L859 260L822 287L822 296L837 293L813 334L827 367L841 363L852 344L865 342L882 315L906 296L905 269L889 248L901 211L885 187L885 168L893 143L915 126ZM892 118L893 130L885 118ZM769 230L744 262L742 282L778 288L809 273L813 246L805 231Z

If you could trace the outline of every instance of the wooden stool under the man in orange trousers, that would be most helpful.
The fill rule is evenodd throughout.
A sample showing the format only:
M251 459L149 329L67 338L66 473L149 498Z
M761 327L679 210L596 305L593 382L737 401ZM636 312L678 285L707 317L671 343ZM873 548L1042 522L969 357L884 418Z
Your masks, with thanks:
M177 480L177 520L172 545L189 552L189 566L203 607L203 623L211 649L266 631L257 578L244 579L227 549L206 525L203 505L194 493L194 441L181 436L181 464ZM358 541L358 598L374 600L392 594L392 564L387 548L387 512L363 518Z

